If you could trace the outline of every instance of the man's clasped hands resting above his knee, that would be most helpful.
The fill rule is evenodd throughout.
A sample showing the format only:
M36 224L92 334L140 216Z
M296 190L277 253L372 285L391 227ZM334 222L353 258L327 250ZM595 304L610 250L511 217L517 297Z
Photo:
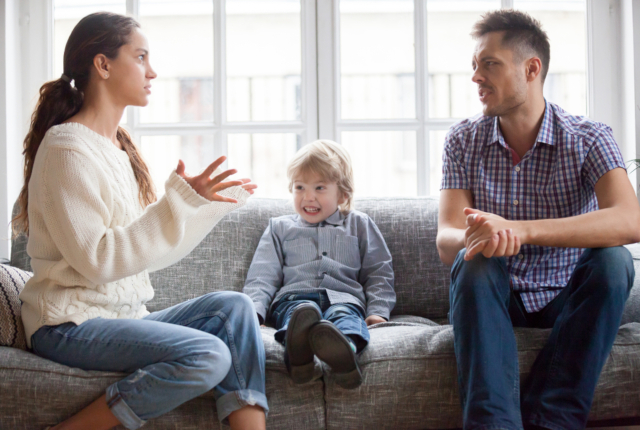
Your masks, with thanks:
M464 208L464 213L467 216L464 234L466 261L478 253L491 258L510 257L520 252L522 232L519 231L519 223L473 208Z

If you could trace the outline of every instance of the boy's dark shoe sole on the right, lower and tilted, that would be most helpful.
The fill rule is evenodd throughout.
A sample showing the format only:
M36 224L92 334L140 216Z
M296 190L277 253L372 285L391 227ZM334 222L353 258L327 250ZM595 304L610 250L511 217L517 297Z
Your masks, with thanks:
M329 322L319 322L309 335L313 353L331 367L336 384L354 389L362 384L362 372L358 367L351 342Z

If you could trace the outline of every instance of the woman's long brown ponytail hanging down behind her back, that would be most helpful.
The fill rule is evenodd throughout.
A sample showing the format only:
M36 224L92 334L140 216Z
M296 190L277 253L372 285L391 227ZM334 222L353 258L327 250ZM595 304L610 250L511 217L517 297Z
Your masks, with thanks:
M65 79L66 78L66 79ZM31 115L29 133L24 139L24 185L18 196L20 212L11 220L14 236L29 233L29 180L33 171L40 143L44 135L54 125L61 124L78 113L82 107L82 92L71 86L71 80L63 75L40 87L40 97Z

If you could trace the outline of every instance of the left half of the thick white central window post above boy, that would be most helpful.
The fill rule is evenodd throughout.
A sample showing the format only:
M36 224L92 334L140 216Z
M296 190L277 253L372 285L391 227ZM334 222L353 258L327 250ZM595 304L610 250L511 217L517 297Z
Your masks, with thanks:
M300 29L302 43L301 119L302 144L318 139L318 68L316 45L316 0L301 0Z

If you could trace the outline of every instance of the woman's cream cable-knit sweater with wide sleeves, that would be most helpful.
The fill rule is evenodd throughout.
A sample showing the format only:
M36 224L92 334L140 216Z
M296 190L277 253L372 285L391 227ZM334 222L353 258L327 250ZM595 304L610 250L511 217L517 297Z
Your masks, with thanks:
M148 315L148 272L186 256L249 197L233 187L220 194L237 204L209 202L175 172L165 189L143 209L126 152L78 123L49 129L29 182L34 276L20 294L29 346L43 325Z

